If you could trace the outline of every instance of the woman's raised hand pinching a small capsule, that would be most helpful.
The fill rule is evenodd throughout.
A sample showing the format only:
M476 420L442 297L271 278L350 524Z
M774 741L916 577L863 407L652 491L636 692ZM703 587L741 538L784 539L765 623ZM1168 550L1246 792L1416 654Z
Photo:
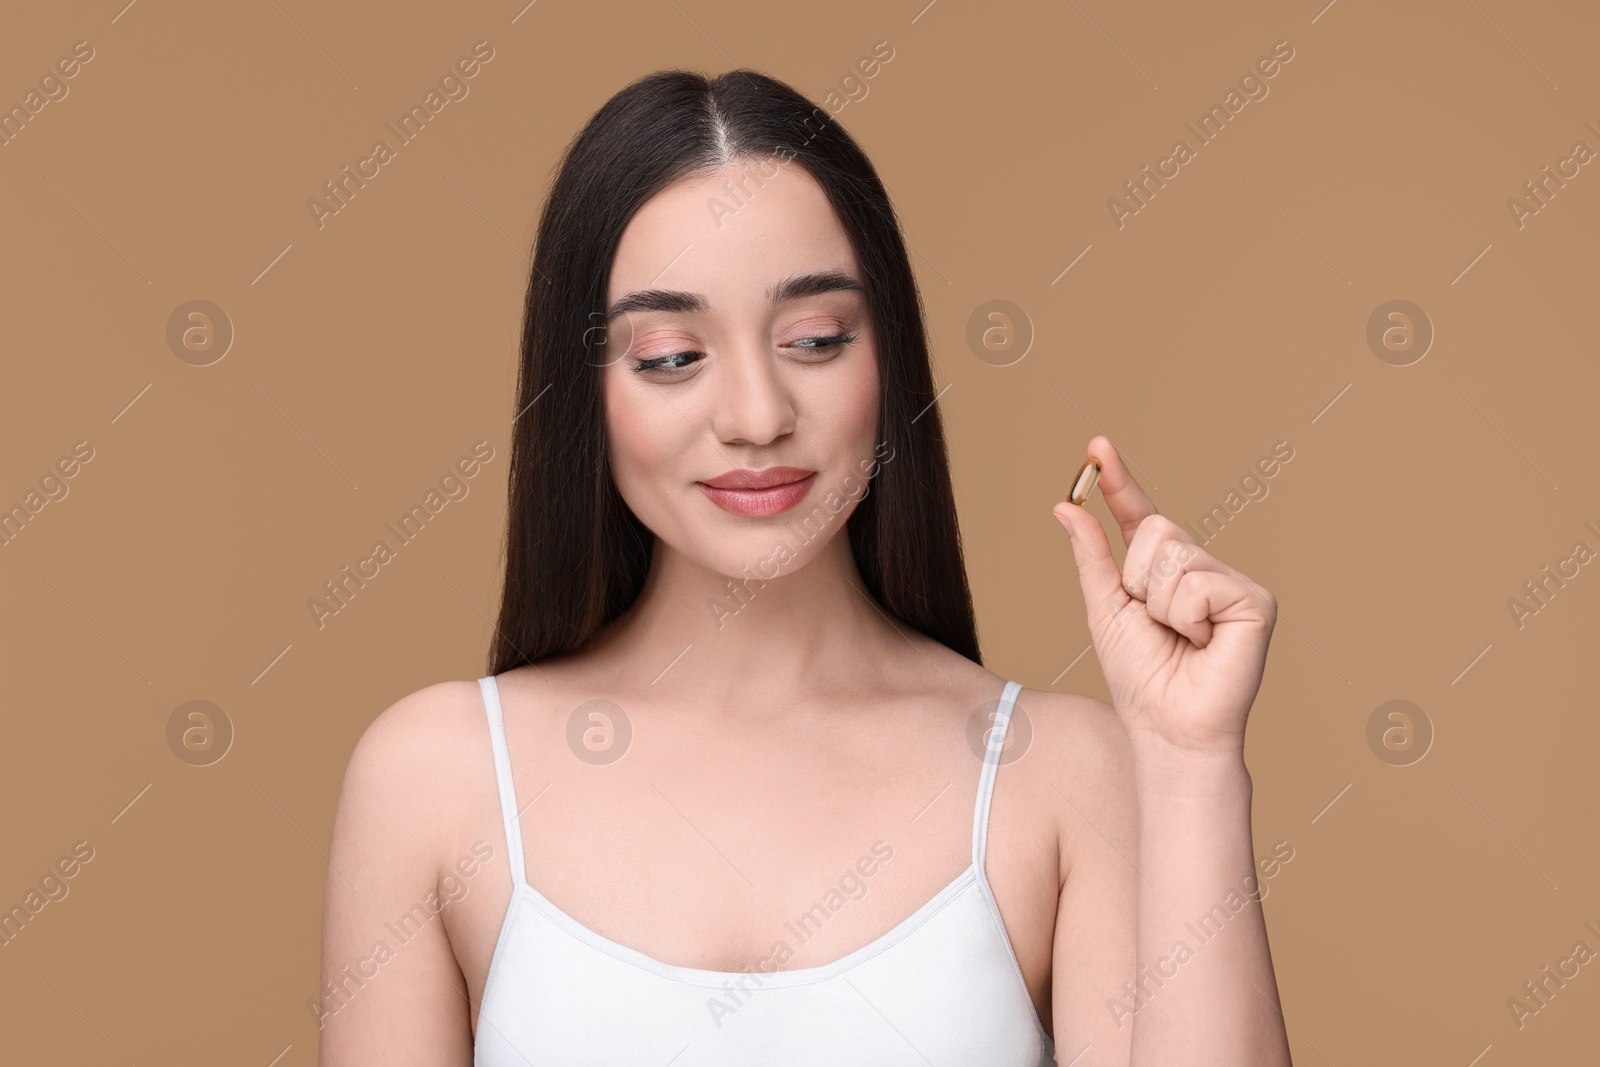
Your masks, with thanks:
M1128 545L1118 571L1099 520L1056 504L1072 536L1090 638L1112 704L1138 741L1195 755L1243 752L1277 600L1155 510L1104 435L1088 443Z

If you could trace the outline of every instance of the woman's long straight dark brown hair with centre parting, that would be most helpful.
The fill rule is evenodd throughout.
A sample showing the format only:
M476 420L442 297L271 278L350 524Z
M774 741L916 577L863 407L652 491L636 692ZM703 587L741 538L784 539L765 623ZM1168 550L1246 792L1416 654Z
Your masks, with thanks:
M650 569L654 536L611 478L600 405L595 325L624 227L680 178L774 155L818 181L864 274L878 434L893 453L846 526L856 566L886 613L982 662L922 298L883 182L843 126L782 82L659 70L606 101L573 139L539 218L491 673L581 648L627 611Z

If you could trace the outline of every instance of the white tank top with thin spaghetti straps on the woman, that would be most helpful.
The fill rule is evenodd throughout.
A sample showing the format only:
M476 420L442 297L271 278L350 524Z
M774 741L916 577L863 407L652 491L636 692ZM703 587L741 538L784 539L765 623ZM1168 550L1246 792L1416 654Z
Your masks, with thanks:
M850 955L770 973L662 963L528 885L499 688L493 677L478 685L512 872L478 1009L478 1067L1054 1064L984 873L989 798L1019 683L1006 683L989 733L971 865Z

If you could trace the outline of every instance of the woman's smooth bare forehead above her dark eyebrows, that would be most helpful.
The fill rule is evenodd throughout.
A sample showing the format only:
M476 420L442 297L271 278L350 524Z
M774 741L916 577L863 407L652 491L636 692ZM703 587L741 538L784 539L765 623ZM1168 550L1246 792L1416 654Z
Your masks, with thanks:
M816 179L795 162L738 160L667 186L634 214L611 262L606 302L674 288L704 293L712 309L754 307L774 282L829 269L859 277Z

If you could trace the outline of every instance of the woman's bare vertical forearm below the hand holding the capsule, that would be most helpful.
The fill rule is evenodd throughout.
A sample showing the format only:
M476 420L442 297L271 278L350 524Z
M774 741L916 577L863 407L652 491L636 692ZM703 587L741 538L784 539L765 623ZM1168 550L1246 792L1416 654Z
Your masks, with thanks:
M1136 737L1138 974L1131 1067L1286 1067L1240 753Z

